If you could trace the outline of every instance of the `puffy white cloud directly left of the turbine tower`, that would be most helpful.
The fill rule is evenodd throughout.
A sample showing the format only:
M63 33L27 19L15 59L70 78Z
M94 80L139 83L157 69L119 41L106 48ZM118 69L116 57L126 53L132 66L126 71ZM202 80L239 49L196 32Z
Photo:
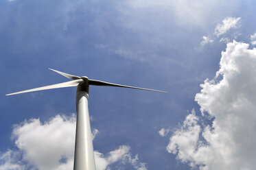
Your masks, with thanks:
M38 169L72 169L75 138L75 115L69 119L57 115L41 123L30 119L16 125L12 134L23 152L23 160ZM61 162L60 160L65 160ZM63 166L65 165L65 166Z

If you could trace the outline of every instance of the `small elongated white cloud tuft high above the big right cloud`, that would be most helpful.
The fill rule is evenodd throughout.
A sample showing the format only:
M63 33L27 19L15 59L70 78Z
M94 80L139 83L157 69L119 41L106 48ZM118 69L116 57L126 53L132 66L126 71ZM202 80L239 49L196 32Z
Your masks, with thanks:
M220 36L229 31L229 29L238 27L238 21L240 21L240 19L241 17L226 17L226 19L224 19L221 24L219 23L216 25L214 34L216 34L216 36Z

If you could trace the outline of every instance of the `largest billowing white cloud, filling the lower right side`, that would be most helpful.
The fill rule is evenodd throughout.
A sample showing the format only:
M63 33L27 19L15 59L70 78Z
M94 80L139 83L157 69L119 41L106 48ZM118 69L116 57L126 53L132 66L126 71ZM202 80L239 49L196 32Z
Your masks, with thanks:
M192 112L171 136L167 151L191 168L255 169L255 65L256 49L242 42L227 44L216 77L205 80L196 95L202 117L207 117L204 112L214 117L212 125L200 125Z

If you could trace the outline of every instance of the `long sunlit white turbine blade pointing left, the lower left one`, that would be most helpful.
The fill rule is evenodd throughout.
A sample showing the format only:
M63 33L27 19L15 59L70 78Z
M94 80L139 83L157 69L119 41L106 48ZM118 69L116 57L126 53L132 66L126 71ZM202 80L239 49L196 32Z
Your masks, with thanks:
M64 88L64 87L71 87L71 86L78 86L78 84L82 83L84 80L80 79L80 80L72 80L69 82L64 82L64 83L59 83L59 84L53 84L53 85L49 85L49 86L43 86L43 87L38 87L38 88L32 88L29 90L23 90L23 91L19 91L16 93L10 93L7 95L17 95L20 93L28 93L28 92L33 92L33 91L39 91L39 90L48 90L48 89L52 89L52 88Z

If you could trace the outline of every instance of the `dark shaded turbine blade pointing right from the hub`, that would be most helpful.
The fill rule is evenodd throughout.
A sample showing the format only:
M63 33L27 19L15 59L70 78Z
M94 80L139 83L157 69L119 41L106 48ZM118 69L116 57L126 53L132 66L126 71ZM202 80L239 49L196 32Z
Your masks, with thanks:
M113 84L113 83L103 82L103 81L100 81L100 80L89 80L89 85L135 88L135 89L140 89L140 90L150 90L150 91L156 91L156 92L161 92L161 93L168 93L167 91L154 90L154 89L150 89L150 88L139 88L139 87L133 87L133 86L125 86L125 85L121 85L121 84Z

